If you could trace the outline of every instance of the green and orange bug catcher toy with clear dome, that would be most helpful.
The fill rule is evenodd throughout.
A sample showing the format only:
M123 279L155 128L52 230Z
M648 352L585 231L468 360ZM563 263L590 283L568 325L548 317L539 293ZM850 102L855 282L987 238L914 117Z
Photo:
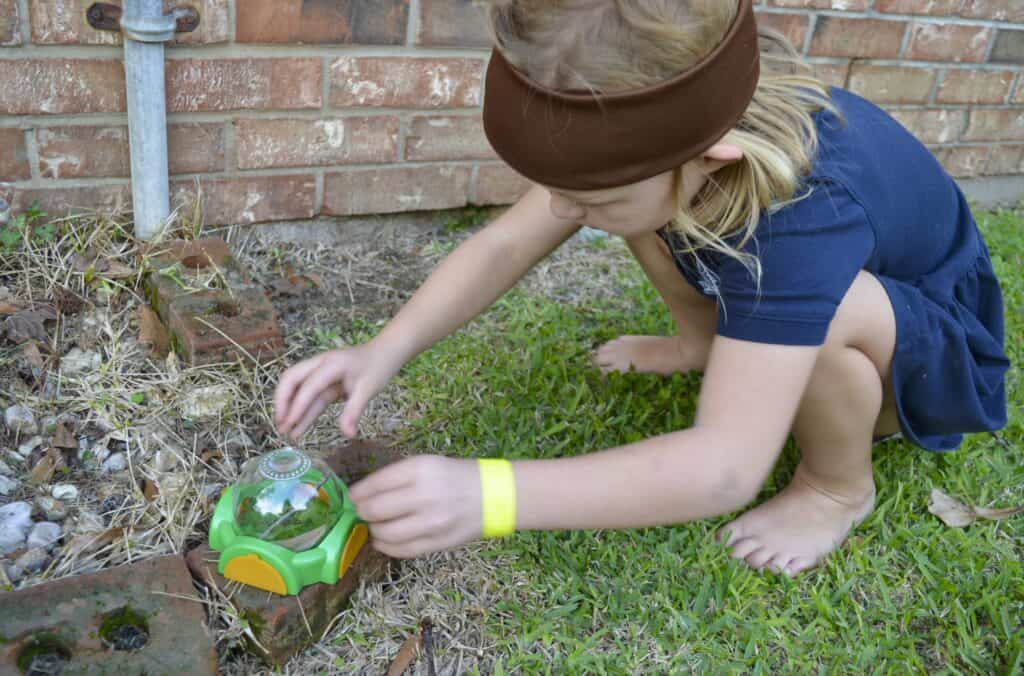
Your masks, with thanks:
M225 578L282 595L334 584L367 541L348 490L327 463L292 448L253 458L210 524Z

